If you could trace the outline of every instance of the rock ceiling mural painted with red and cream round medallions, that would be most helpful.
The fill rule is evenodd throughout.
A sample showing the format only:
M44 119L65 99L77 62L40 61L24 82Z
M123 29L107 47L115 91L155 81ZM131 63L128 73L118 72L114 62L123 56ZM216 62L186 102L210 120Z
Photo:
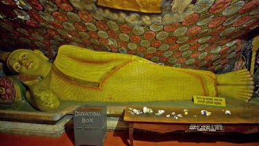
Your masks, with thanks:
M153 0L154 12L105 1L1 0L0 48L39 49L54 60L59 46L72 44L217 72L238 60L242 37L259 25L259 0Z

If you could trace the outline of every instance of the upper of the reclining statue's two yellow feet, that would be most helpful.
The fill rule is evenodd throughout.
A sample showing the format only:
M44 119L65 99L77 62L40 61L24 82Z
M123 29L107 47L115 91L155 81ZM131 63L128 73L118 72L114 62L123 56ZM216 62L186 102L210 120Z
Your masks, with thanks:
M247 69L216 75L218 85L253 85L253 77Z

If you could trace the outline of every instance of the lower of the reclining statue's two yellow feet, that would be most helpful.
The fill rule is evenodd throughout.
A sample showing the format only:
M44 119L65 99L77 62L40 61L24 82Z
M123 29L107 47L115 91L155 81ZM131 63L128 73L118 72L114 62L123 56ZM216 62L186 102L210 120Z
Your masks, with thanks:
M247 102L253 97L253 85L238 86L238 85L218 85L218 93L221 96L238 98Z

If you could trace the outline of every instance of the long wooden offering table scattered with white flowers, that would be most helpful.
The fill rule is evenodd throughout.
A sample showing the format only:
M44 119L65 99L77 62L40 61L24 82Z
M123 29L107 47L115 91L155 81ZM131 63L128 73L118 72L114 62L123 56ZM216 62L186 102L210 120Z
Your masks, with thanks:
M153 110L153 113L133 115L129 108L142 111L143 106L126 106L125 109L124 121L129 122L129 138L132 146L134 129L166 133L177 130L197 131L197 129L190 130L190 125L222 125L222 130L215 131L236 131L244 134L259 132L259 109L189 108L187 109L188 115L185 115L184 109L186 108L182 107L148 107ZM159 109L164 110L164 113L157 116L155 113ZM202 115L202 110L211 112L211 116ZM229 110L231 114L226 114L226 110ZM173 112L175 115L172 114ZM178 114L181 114L182 118L176 119L175 116Z

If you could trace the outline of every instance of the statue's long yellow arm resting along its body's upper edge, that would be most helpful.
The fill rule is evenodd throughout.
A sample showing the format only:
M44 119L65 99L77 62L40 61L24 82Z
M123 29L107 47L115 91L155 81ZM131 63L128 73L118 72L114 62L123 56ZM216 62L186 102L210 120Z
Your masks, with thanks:
M137 62L148 62L142 57L137 57L135 55L127 55L120 53L109 53L101 51L92 51L87 48L80 48L78 46L64 45L59 48L57 55L65 55L66 57L73 58L75 60L80 60L82 62L93 62L93 63L105 63L114 61L137 61Z

